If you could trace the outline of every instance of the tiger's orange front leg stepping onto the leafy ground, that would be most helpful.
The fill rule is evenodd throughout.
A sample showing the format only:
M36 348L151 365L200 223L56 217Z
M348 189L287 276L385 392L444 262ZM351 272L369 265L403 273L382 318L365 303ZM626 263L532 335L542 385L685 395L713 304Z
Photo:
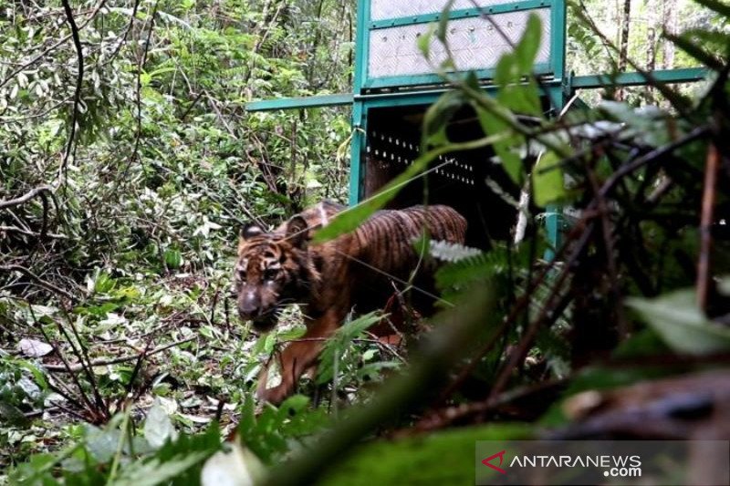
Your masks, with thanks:
M274 388L266 388L268 369L265 368L259 377L256 394L259 398L274 404L279 404L291 395L297 386L299 378L314 366L319 353L324 347L326 338L342 323L346 312L339 309L330 309L321 317L308 323L307 332L297 341L287 346L281 353L281 383Z

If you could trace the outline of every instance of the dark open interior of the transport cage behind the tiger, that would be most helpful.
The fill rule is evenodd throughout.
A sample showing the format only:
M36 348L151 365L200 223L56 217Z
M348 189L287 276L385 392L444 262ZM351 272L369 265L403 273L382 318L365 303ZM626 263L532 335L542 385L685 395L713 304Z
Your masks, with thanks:
M371 109L360 168L359 198L377 194L420 155L422 118L428 106ZM468 141L484 136L472 109L457 112L446 129L449 140ZM425 176L404 185L388 209L428 202L446 204L469 222L467 244L489 248L495 240L511 237L516 223L519 188L509 180L491 148L444 154L433 160ZM490 190L485 181L501 193ZM511 188L505 189L505 188Z

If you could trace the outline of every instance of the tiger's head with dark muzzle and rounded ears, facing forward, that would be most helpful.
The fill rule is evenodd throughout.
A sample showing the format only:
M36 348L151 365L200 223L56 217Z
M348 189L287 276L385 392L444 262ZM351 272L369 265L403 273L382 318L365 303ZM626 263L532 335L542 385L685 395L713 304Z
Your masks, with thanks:
M284 305L301 299L312 278L307 222L295 216L283 231L266 233L248 225L238 242L235 293L238 315L259 332L276 326Z

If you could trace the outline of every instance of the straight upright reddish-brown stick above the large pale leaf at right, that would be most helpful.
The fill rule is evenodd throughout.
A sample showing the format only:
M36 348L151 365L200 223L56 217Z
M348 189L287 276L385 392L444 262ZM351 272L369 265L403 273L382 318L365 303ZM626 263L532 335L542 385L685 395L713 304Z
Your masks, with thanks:
M712 224L719 159L717 147L714 143L710 143L707 149L704 170L704 192L700 221L700 258L697 262L697 305L701 309L707 306L707 294L710 287L710 251L713 244Z

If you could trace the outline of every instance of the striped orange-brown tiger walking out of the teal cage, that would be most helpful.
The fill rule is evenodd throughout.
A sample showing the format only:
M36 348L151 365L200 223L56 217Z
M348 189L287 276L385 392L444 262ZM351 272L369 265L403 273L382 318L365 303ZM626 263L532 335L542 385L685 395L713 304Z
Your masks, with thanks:
M281 383L266 388L268 369L262 371L259 398L272 403L287 398L299 377L315 365L322 341L353 307L359 313L381 308L393 294L384 275L407 280L417 266L433 273L413 245L424 231L436 241L464 244L464 217L437 205L376 212L352 233L310 243L312 235L343 209L337 203L321 202L273 232L255 225L241 231L235 264L240 317L251 321L256 331L266 332L276 326L285 305L298 303L304 305L307 326L302 339L290 343L279 356Z

